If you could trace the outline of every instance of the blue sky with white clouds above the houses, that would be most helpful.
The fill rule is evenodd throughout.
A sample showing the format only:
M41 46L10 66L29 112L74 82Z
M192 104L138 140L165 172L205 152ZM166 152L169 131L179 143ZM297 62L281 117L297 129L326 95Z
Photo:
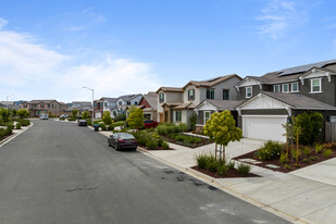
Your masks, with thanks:
M0 100L146 94L336 59L333 0L0 3Z

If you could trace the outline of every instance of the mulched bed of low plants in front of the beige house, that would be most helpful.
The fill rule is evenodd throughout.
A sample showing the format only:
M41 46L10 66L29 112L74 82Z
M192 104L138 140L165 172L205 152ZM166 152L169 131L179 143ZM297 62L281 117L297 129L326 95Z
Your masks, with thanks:
M188 148L197 148L200 146L206 146L209 144L212 144L210 139L207 138L200 138L200 137L194 137L194 136L187 136L183 134L172 134L172 135L164 135L162 138L169 142L176 144L179 146L188 147Z

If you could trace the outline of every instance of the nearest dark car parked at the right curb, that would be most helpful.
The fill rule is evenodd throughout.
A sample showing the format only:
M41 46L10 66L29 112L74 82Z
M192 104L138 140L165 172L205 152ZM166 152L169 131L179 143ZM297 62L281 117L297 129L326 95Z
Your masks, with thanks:
M137 139L128 133L115 133L108 138L109 146L114 147L115 150L120 149L133 149L138 147Z

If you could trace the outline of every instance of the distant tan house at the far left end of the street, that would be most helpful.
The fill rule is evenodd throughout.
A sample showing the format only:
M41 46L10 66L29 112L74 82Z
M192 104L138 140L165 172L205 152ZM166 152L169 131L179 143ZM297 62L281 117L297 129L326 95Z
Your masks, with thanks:
M22 109L27 109L30 116L39 116L41 114L60 115L62 105L57 100L32 100L21 104Z

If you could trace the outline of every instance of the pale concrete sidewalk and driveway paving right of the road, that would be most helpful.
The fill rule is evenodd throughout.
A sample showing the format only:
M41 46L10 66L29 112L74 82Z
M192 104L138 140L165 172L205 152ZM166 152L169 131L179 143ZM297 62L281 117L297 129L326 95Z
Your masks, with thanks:
M111 135L111 132L99 133ZM253 151L262 144L254 139L231 142L226 157ZM288 174L252 165L251 172L261 177L214 179L190 169L196 165L197 154L214 151L214 144L195 149L170 146L175 150L149 151L140 147L138 150L293 223L336 223L336 159Z

